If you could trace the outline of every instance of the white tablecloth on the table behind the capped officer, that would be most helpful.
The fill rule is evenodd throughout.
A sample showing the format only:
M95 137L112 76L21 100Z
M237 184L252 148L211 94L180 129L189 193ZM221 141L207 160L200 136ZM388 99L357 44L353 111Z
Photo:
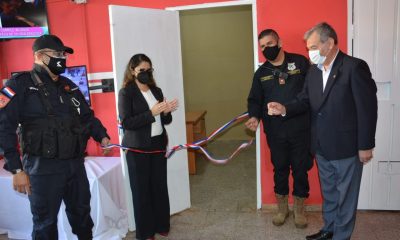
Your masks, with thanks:
M12 176L0 160L0 233L9 238L31 239L32 214L28 197L12 189ZM128 232L128 220L119 157L87 157L86 173L92 198L91 216L96 240L117 240ZM59 239L77 239L71 232L62 204L58 214Z

